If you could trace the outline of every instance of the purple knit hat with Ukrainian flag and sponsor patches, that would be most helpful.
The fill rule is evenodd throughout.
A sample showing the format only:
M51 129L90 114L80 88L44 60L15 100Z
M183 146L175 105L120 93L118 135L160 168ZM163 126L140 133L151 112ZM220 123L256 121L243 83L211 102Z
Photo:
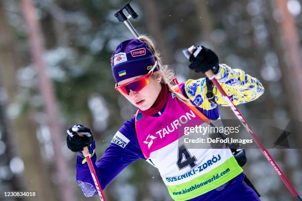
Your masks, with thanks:
M151 50L147 48L147 42L140 39L125 40L116 47L111 56L111 67L115 82L149 72L155 64ZM158 68L155 67L154 72Z

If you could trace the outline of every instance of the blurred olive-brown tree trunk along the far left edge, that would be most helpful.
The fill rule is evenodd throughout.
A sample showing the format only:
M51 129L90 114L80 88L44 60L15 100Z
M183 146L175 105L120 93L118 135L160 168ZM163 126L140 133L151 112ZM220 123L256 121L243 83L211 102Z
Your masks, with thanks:
M7 24L6 15L0 3L0 80L7 91L8 100L6 108L16 102L17 84L16 67L14 63L14 44L12 32ZM6 113L3 111L2 114ZM13 186L10 190L36 191L38 200L55 201L56 193L52 191L50 175L47 167L42 161L39 150L39 142L36 136L36 125L33 121L31 111L19 115L11 121L3 124L6 131L6 156L11 159L13 156L20 156L24 163L24 179L21 177L16 181L13 179ZM26 117L25 117L26 116ZM7 119L8 120L8 119Z

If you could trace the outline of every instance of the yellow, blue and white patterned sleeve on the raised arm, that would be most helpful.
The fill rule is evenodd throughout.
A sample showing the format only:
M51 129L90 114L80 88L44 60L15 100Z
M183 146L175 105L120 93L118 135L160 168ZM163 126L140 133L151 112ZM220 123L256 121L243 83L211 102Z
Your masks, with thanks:
M226 64L220 64L215 77L235 105L256 100L264 93L264 87L258 79L241 69L232 69ZM217 104L213 104L206 99L207 85L205 78L189 79L185 83L185 91L188 98L202 110L212 110L217 105L228 106L215 86L213 94Z

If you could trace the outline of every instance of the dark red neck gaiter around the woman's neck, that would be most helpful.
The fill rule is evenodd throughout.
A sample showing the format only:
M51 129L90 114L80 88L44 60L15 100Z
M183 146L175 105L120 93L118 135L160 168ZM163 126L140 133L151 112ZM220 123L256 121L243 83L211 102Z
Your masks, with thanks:
M167 86L161 83L161 90L160 90L160 93L159 93L157 99L155 100L154 104L149 109L142 111L143 114L151 116L151 115L159 112L163 108L163 106L166 104L166 102L168 100L168 96L169 96L169 93L168 93Z

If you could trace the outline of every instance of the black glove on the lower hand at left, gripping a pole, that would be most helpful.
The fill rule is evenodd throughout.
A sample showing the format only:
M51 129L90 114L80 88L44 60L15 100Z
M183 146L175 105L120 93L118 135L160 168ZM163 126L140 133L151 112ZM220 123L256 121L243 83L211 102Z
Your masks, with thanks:
M88 127L82 125L75 125L70 127L67 131L67 147L73 152L83 151L83 148L92 145L93 135ZM83 136L79 136L82 134Z

